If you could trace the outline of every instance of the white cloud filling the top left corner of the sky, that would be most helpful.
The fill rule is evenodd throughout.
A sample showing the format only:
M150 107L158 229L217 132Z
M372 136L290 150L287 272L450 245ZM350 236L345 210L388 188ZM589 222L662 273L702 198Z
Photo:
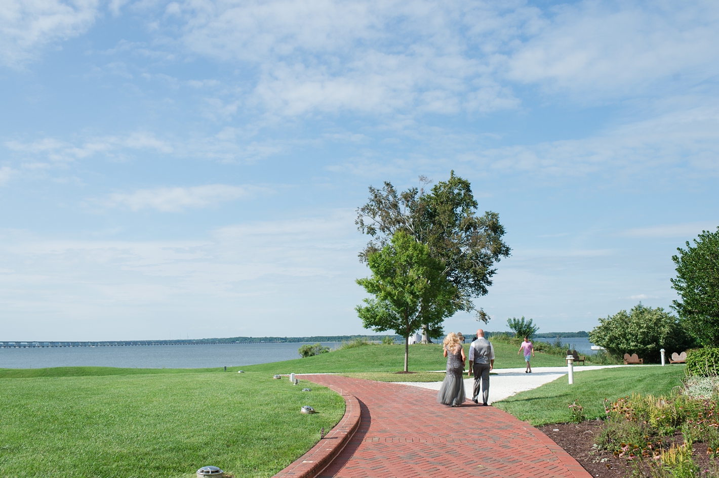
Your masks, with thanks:
M0 1L0 64L22 67L48 43L86 32L97 14L97 0Z

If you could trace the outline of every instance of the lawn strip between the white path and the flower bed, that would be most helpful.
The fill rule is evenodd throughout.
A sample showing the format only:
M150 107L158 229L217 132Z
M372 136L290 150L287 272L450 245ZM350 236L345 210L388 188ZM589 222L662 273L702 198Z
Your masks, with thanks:
M495 402L493 406L535 426L568 422L568 406L574 400L579 400L587 418L604 418L605 398L616 400L632 392L668 395L672 387L682 384L682 377L682 365L587 370L574 374L574 385L567 383L566 376L559 377L534 390Z

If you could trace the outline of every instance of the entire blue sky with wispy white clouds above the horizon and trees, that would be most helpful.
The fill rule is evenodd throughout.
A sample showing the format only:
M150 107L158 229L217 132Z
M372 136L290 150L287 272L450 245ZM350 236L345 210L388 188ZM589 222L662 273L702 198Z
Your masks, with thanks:
M717 45L716 1L1 1L0 339L371 334L356 209L452 170L512 249L488 330L669 308Z

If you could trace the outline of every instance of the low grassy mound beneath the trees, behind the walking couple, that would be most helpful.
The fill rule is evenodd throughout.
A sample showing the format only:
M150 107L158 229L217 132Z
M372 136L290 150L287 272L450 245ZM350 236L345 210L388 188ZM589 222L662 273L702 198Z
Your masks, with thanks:
M524 367L524 357L517 355L519 347L497 343L495 347L495 367ZM470 345L464 345L464 353L469 354ZM532 367L560 367L566 364L563 357L536 354L531 361ZM271 374L288 373L342 373L342 372L398 372L404 367L403 345L367 345L354 349L340 349L329 354L321 354L304 359L285 360L269 364L245 365L243 370L267 372ZM444 370L446 359L442 357L441 344L417 344L409 346L409 369L414 372ZM239 367L234 367L235 370Z

